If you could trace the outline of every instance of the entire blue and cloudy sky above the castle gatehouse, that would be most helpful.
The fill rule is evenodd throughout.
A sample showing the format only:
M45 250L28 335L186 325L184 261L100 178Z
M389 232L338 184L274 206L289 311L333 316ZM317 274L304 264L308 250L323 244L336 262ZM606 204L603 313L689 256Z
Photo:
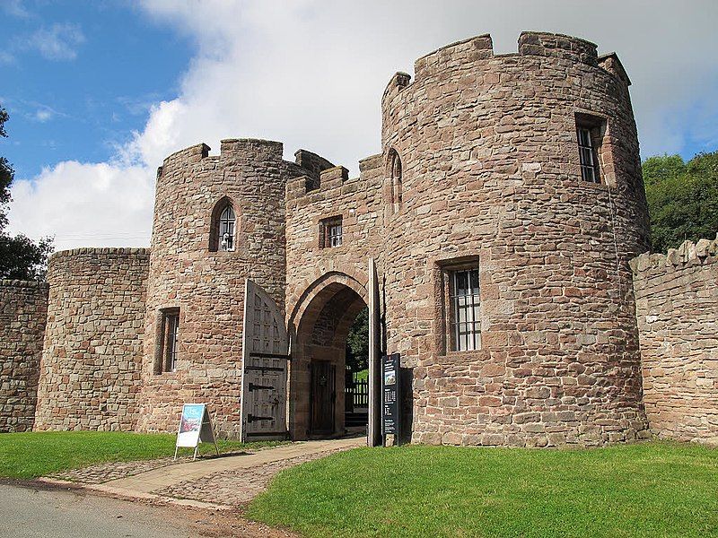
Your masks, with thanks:
M171 152L258 136L356 173L380 152L396 71L490 32L617 51L644 157L718 149L715 0L0 0L11 232L57 248L146 246Z

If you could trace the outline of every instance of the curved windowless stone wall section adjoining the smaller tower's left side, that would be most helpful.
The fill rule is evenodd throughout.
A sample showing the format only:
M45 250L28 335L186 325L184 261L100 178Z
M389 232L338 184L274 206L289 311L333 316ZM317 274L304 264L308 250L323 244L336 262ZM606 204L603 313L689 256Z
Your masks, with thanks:
M77 248L50 257L35 430L134 430L149 254Z

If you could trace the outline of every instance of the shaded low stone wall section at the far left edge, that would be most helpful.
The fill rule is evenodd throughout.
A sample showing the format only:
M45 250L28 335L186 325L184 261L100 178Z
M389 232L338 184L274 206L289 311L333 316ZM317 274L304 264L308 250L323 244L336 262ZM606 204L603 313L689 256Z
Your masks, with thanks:
M32 430L47 317L47 283L0 280L0 432Z

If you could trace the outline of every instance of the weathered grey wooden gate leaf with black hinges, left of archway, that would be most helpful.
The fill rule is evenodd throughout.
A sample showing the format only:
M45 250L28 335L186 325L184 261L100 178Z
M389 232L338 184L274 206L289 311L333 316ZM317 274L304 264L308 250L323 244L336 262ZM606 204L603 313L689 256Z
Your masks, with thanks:
M287 367L285 317L274 299L247 279L242 331L241 440L285 439Z

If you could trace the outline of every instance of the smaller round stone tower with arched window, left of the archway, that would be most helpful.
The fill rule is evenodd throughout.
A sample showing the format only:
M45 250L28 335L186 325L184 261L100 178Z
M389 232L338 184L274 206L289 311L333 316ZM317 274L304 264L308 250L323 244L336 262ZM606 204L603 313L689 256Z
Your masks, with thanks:
M208 152L199 144L174 153L157 178L140 430L176 429L182 404L195 402L210 404L217 433L238 435L245 279L284 308L285 182L298 167L276 142L224 140L219 156ZM223 199L236 215L232 252L209 248ZM156 373L165 308L180 309L177 361Z

